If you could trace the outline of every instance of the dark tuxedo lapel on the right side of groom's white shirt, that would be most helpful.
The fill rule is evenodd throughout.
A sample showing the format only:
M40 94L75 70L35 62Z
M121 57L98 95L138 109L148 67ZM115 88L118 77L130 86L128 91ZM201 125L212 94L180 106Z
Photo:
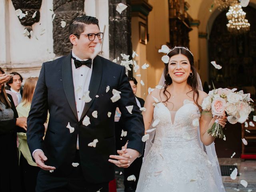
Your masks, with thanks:
M90 91L89 96L90 96L90 98L92 98L92 100L90 102L84 104L84 110L82 112L81 119L84 118L86 112L92 105L92 103L95 99L95 96L98 92L98 89L100 87L101 76L102 76L102 62L101 62L100 56L96 56L94 58L92 65L93 65L92 66L92 76L91 76L89 89L88 89Z

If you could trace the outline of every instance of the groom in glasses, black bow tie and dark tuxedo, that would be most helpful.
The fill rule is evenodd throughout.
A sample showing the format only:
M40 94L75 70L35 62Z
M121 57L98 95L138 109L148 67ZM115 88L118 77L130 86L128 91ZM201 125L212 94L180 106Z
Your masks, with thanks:
M28 146L42 168L36 191L108 192L114 164L128 167L142 154L142 115L125 68L100 56L89 59L103 38L98 19L76 18L69 34L72 52L42 64L28 116ZM121 92L116 102L110 99L113 89ZM116 107L126 122L128 153L110 159L115 154Z

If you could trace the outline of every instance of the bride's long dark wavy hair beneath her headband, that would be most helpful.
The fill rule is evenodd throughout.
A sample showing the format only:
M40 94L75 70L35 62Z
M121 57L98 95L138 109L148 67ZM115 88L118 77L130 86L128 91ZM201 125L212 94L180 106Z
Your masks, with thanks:
M190 92L193 92L193 100L194 100L194 102L196 103L198 108L201 110L202 107L198 104L199 92L197 90L198 83L197 83L197 72L196 72L196 68L195 68L195 65L194 65L194 57L190 53L190 51L188 51L188 50L186 50L184 48L174 48L174 49L172 49L172 51L170 51L168 53L168 56L169 56L169 58L171 58L172 56L178 55L178 54L182 54L182 55L184 55L184 56L186 56L188 58L188 61L190 63L190 69L191 69L193 75L192 75L192 77L188 76L187 84L192 89ZM169 62L164 64L164 79L165 79L165 81L164 81L164 91L163 91L163 94L167 98L166 101L164 101L164 102L167 102L168 99L171 97L170 92L168 92L168 90L166 90L166 88L168 88L168 86L170 86L170 84L172 84L172 78L170 77L170 75L168 75L168 65L169 65ZM187 94L188 93L189 92L187 92Z

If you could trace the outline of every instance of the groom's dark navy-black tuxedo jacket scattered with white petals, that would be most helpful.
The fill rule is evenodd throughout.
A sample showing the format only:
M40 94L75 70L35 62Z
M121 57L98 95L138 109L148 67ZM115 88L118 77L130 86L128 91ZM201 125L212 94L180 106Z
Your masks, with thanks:
M110 90L106 92L106 87ZM121 92L121 99L112 102L112 89ZM48 160L46 165L55 166L56 170L47 174L69 175L72 171L76 153L77 136L79 137L79 152L84 178L88 182L101 183L114 179L114 164L108 162L109 155L115 154L114 115L118 106L127 125L128 148L142 153L144 143L144 124L134 94L125 74L125 68L100 56L93 60L92 76L89 85L90 98L78 120L74 85L72 78L71 53L52 62L43 63L39 79L32 99L28 116L27 141L32 153L42 149ZM96 97L98 95L98 97ZM132 114L126 106L133 105ZM44 136L44 122L47 111L50 118L48 129ZM98 111L98 118L92 112ZM110 118L108 112L111 112ZM90 118L90 124L84 126L85 116ZM74 127L74 132L66 128ZM88 144L98 139L96 147Z

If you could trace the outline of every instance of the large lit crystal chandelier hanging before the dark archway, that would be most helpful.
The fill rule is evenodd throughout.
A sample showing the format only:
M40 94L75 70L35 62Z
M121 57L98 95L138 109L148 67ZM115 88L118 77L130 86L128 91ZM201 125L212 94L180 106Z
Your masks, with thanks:
M227 27L229 32L238 34L250 30L250 23L245 19L246 12L242 10L240 4L232 4L226 16L228 18Z

